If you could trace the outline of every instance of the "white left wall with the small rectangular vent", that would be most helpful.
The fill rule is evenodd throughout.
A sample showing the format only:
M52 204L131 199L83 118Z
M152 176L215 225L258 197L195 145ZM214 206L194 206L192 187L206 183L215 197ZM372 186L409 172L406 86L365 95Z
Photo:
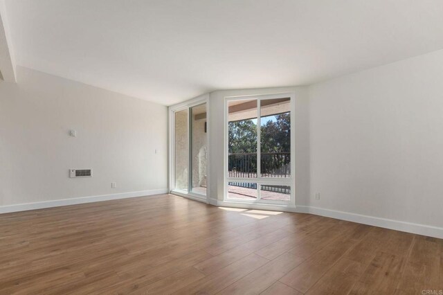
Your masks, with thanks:
M165 106L17 67L17 84L0 82L0 206L166 190L167 117ZM70 168L93 177L70 179Z

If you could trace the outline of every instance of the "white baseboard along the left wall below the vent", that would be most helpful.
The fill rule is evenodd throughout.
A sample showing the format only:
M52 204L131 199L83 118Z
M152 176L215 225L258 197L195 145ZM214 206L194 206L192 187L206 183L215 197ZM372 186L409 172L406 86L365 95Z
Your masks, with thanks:
M68 206L68 205L76 205L76 204L85 204L85 203L92 203L92 202L109 201L111 199L126 199L129 197L144 197L144 196L149 196L149 195L159 195L159 194L165 194L165 193L168 193L167 188L161 188L158 190L140 190L140 191L129 192L129 193L97 195L97 196L89 196L89 197L76 197L76 198L72 198L72 199L57 199L57 200L53 200L53 201L0 206L0 214L19 212L19 211L36 210L36 209L43 209L43 208Z

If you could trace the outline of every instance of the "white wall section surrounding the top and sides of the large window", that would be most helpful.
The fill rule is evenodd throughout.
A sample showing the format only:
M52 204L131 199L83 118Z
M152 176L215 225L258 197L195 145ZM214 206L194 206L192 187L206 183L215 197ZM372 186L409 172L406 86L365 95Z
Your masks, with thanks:
M224 190L224 102L228 96L295 93L296 100L296 205L309 202L309 100L306 87L243 89L210 93L210 199L223 200Z

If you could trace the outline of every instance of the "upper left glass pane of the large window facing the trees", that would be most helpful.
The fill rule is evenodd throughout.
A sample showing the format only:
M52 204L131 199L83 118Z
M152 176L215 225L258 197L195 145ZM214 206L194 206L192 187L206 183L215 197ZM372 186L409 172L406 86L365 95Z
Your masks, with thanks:
M228 102L228 177L257 177L257 100Z

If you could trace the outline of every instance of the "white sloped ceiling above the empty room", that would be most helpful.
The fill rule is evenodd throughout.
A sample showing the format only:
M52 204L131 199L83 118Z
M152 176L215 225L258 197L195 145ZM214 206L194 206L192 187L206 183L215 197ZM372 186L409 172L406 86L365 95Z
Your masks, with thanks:
M171 105L443 48L441 0L7 0L17 64Z

